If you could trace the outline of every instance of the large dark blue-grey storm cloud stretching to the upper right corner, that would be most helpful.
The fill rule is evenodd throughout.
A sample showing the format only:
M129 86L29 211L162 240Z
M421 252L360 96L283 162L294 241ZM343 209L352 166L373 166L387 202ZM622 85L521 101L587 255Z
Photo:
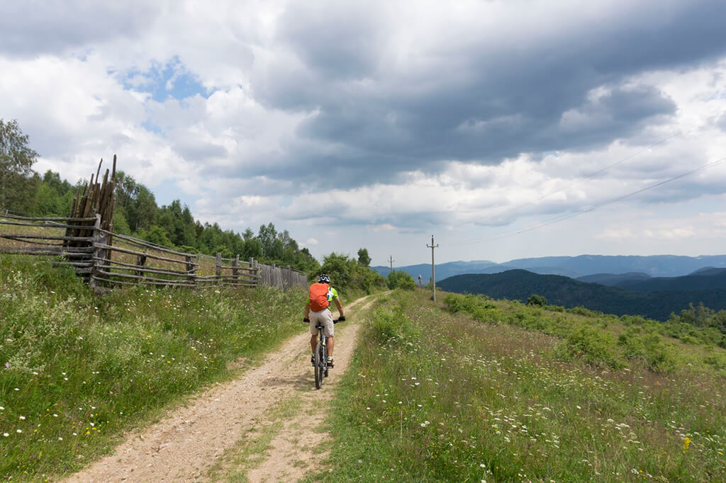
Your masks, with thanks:
M726 2L651 2L601 25L513 30L464 47L442 41L427 52L428 70L412 73L382 67L396 45L375 11L335 7L323 24L323 7L307 5L279 29L301 65L269 75L259 93L271 107L316 111L298 136L338 147L325 156L303 147L294 161L266 166L269 176L314 180L309 163L323 162L330 173L344 168L349 176L335 182L351 186L433 172L444 160L496 164L521 153L594 149L674 114L655 86L625 85L632 76L726 53ZM604 94L592 99L597 88Z

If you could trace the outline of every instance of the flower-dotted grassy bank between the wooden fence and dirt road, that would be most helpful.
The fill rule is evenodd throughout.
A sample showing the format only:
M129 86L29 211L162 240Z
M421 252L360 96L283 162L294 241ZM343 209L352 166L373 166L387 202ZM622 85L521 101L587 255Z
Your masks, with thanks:
M0 257L0 480L43 481L299 333L305 292L136 287Z

